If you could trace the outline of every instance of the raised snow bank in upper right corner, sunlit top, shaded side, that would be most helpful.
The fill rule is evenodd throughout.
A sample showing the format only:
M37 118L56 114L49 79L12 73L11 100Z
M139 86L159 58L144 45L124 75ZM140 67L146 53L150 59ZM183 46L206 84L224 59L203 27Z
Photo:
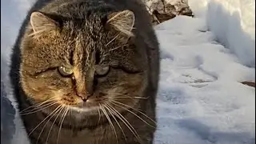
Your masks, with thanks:
M198 17L206 17L218 42L236 54L242 64L255 67L254 0L191 0L189 5Z

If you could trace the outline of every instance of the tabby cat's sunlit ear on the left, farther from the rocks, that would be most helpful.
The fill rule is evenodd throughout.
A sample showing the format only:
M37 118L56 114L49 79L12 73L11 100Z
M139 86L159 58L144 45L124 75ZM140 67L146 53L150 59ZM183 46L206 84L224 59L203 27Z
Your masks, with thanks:
M30 15L30 25L34 32L31 35L36 37L43 34L49 34L50 32L57 30L59 26L58 22L38 11L35 11Z

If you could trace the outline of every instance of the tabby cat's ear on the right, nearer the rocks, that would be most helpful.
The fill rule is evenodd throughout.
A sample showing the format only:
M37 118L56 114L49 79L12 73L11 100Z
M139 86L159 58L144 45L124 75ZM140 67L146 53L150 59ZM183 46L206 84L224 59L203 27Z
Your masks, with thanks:
M106 25L111 29L117 30L126 36L134 36L132 30L134 28L134 12L131 10L122 10L107 15Z

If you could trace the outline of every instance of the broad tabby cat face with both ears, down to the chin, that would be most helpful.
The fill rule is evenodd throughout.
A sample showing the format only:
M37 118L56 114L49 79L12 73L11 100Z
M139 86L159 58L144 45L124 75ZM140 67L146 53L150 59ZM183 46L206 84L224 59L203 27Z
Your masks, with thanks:
M133 26L129 10L87 21L32 13L22 40L22 89L33 103L90 114L135 106L147 78Z

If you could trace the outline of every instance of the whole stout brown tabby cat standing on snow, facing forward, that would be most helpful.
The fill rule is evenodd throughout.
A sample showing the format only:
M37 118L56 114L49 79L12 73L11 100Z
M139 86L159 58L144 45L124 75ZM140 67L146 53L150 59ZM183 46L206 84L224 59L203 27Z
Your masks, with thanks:
M32 144L152 143L158 41L137 0L39 0L11 57Z

